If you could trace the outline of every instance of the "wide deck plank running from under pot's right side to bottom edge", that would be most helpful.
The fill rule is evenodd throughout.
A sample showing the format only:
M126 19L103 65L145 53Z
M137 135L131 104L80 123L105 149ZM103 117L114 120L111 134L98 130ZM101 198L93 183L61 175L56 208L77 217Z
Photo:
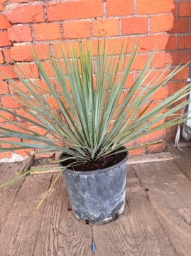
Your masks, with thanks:
M124 213L114 222L93 226L96 255L175 256L131 166L128 166L127 174L126 197L129 207L126 203Z

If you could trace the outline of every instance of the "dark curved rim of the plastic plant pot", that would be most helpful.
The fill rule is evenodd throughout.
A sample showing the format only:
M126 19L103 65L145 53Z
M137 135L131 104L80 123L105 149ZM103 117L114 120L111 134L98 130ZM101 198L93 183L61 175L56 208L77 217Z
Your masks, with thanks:
M123 146L124 147L124 146ZM124 147L125 149L125 147ZM62 156L62 154L60 154L59 156L59 159L60 157ZM124 164L125 161L127 161L128 159L128 156L129 156L129 152L126 151L126 156L124 157L124 159L122 159L121 161L119 161L117 164L114 164L112 166L109 166L107 168L103 168L103 169L97 169L97 170L92 170L92 171L75 171L75 170L71 170L71 169L65 169L65 171L67 171L68 173L71 173L71 174L84 174L84 175L87 175L87 174L95 174L95 172L104 172L104 171L110 171L111 169L114 169L116 168L117 166L121 165L121 164ZM61 162L59 163L59 165L63 168L64 166L62 166ZM64 173L65 173L64 171Z

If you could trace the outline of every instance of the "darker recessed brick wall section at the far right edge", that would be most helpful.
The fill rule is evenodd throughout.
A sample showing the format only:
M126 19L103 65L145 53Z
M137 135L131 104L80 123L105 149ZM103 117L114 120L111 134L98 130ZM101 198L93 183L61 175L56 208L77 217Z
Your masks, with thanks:
M170 37L166 46L166 52L172 58L172 68L180 63L184 64L191 58L191 1L175 0L173 10L174 23L170 30ZM169 94L173 94L180 87L184 86L188 78L188 67L182 70L172 82L169 82ZM167 131L168 138L174 137L176 127L171 127Z

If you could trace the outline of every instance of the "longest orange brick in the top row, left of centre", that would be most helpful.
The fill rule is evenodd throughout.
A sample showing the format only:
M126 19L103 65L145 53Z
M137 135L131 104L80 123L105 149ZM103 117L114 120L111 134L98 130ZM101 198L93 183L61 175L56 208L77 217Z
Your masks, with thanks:
M103 16L102 0L65 1L47 5L48 21L95 18Z

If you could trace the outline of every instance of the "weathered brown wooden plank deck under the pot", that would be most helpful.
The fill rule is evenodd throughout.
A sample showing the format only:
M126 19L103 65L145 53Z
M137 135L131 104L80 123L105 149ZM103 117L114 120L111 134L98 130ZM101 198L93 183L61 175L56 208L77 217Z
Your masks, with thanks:
M102 226L75 219L62 178L35 211L55 174L31 175L1 190L0 255L190 256L191 147L181 155L129 165L124 213ZM17 170L16 164L2 164L0 182Z

